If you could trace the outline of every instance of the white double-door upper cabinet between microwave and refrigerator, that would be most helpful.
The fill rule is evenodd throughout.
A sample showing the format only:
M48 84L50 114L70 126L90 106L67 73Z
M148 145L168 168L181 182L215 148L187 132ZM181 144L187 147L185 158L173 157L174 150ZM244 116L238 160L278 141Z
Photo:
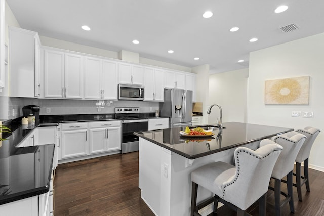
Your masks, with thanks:
M152 67L144 68L145 101L163 101L164 73L165 71L163 69Z

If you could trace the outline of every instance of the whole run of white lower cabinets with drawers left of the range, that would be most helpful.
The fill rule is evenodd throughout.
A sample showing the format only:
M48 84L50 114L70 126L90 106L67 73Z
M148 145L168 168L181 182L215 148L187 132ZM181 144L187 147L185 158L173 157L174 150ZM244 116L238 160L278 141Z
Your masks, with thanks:
M56 151L59 163L88 159L100 153L107 155L120 149L120 120L62 123L58 126Z

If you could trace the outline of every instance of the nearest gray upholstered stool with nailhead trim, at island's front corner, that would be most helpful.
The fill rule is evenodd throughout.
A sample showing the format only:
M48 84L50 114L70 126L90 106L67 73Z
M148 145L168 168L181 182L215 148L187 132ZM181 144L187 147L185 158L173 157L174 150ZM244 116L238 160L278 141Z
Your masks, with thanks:
M198 210L213 201L215 213L220 201L235 209L237 215L244 215L257 200L260 201L260 215L265 215L270 176L282 147L268 139L261 143L264 146L255 151L238 147L234 152L235 166L215 162L191 172L191 215L200 215ZM197 205L198 185L213 192L215 197Z

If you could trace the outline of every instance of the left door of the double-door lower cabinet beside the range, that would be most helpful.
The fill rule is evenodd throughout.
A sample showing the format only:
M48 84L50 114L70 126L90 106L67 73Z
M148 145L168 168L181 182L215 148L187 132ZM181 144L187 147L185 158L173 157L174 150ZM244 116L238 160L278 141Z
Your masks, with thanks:
M106 151L107 128L90 129L90 154Z

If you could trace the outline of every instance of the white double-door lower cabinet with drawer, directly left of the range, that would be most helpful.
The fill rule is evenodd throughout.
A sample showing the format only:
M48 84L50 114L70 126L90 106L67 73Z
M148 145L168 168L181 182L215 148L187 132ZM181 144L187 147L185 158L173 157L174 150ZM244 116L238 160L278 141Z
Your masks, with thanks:
M90 122L90 154L121 149L121 121Z

